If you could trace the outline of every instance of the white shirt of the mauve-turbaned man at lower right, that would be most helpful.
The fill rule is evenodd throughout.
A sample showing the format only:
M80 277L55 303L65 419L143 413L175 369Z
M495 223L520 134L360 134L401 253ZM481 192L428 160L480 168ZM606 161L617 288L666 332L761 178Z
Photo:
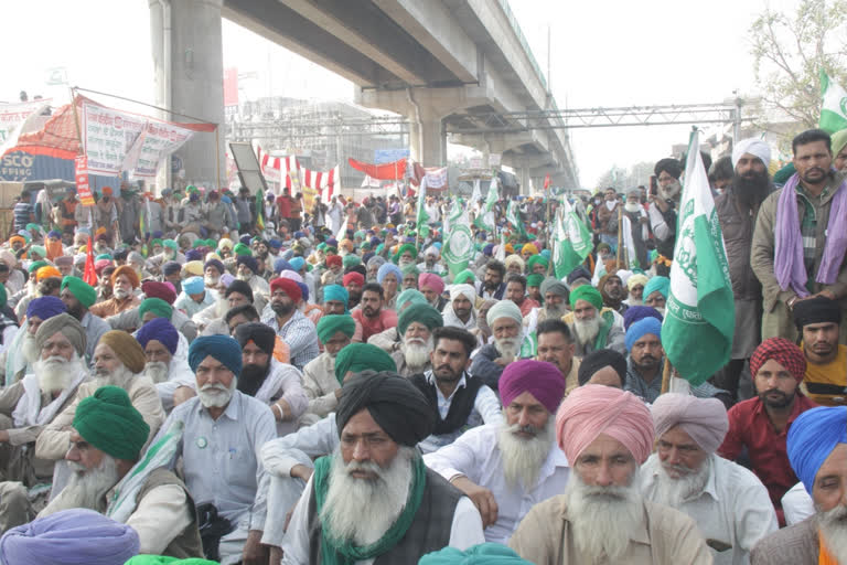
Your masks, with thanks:
M716 565L750 563L753 545L778 529L768 489L740 465L714 454L708 461L711 468L706 487L676 510L697 522ZM656 475L664 472L660 466L658 455L653 454L641 467L641 492L645 500L656 501ZM718 552L711 546L712 541L731 548Z

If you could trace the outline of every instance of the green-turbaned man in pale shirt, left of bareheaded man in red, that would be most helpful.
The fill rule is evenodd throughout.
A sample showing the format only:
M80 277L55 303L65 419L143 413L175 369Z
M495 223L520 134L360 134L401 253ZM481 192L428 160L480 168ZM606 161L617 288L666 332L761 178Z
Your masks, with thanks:
M323 315L318 320L318 340L323 353L303 366L303 391L309 407L300 416L300 427L310 426L335 409L341 395L341 383L335 377L335 359L350 347L356 332L356 321L349 313Z

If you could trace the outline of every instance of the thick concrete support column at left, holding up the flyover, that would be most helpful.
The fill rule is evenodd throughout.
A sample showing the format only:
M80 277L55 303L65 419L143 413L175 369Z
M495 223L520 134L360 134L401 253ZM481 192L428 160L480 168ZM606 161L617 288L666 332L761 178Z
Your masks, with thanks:
M149 0L156 73L156 105L218 125L215 134L195 134L176 153L187 183L225 182L223 0ZM162 113L170 121L191 121ZM170 169L170 162L165 163Z

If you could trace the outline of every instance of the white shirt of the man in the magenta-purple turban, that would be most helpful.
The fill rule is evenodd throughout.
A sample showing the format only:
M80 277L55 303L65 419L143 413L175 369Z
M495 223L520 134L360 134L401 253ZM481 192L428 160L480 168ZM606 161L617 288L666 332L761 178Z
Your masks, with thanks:
M485 541L505 544L521 520L535 504L565 492L570 468L565 454L550 445L535 487L508 487L497 447L500 424L486 424L465 431L459 439L438 451L424 456L424 462L447 480L464 475L489 489L497 501L497 521L485 529Z

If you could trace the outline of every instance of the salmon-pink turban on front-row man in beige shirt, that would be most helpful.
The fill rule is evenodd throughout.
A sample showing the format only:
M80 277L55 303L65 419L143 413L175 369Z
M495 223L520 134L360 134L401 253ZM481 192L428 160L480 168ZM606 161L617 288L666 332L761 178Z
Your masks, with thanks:
M570 465L600 434L623 444L637 465L653 450L653 417L637 396L599 384L575 388L556 414L556 440Z

